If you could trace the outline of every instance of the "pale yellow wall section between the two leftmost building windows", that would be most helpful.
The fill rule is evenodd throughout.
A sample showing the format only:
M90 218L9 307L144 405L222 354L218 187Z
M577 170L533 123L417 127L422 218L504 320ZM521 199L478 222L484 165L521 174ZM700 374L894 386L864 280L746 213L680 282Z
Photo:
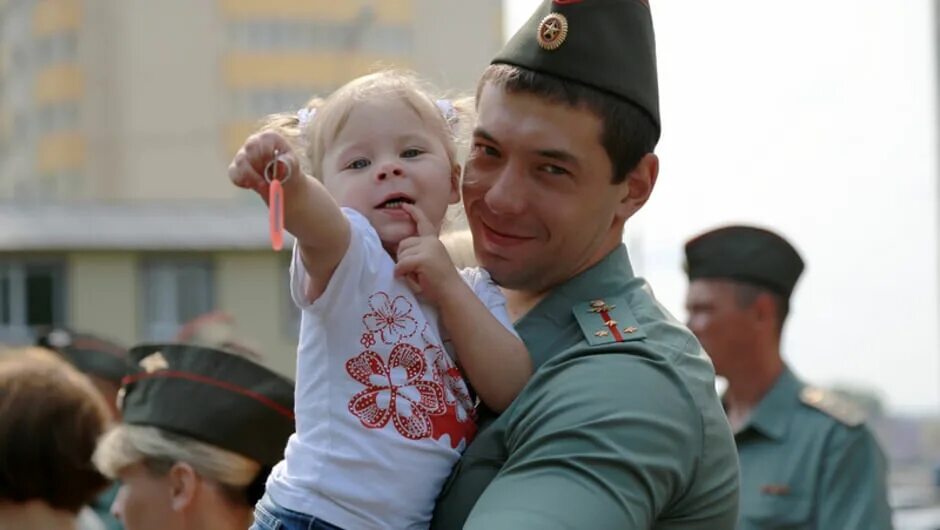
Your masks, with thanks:
M68 324L131 344L138 333L137 259L127 252L68 258Z

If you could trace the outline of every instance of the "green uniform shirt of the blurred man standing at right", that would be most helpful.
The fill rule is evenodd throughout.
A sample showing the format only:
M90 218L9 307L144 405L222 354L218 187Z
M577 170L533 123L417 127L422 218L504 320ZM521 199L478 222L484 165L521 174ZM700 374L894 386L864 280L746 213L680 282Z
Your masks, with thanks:
M861 417L790 370L735 436L739 530L891 528L885 459Z

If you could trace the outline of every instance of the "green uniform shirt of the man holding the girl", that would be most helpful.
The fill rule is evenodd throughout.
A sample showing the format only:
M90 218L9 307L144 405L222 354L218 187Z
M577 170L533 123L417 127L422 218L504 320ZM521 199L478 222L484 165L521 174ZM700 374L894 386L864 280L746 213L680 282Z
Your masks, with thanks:
M701 346L623 246L516 323L536 372L481 421L432 528L730 530L734 441Z

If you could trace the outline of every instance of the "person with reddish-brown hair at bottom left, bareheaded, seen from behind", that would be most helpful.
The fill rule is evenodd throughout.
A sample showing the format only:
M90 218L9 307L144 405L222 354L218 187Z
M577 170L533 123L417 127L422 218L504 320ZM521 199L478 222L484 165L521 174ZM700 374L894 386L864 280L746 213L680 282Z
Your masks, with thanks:
M0 353L0 530L103 530L87 504L108 410L87 377L38 348Z

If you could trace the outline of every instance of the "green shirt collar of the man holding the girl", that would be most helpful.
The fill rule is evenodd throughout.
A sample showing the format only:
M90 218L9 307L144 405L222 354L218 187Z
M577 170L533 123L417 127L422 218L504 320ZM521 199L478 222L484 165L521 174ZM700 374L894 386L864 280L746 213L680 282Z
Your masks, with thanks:
M574 304L623 293L633 280L630 256L627 247L621 244L588 269L556 286L516 321L516 331L529 347L535 368L559 353L552 345L561 334L570 331L571 326L578 329L571 313Z

